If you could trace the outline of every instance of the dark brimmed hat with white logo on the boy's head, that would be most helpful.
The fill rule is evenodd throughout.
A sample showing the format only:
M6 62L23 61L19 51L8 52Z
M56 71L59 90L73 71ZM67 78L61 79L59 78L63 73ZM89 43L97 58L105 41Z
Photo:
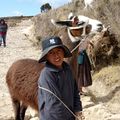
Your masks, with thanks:
M65 45L63 45L61 39L58 36L54 36L54 37L50 37L42 41L42 54L39 59L39 62L46 61L45 56L47 55L47 53L56 47L61 47L64 50L65 58L72 56L72 53Z

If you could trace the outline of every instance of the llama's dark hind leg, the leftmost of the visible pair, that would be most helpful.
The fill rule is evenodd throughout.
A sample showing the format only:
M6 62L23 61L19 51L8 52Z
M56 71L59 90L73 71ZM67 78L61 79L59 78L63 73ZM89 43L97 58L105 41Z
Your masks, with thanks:
M20 101L15 98L12 98L12 103L14 107L15 120L21 120L20 119Z

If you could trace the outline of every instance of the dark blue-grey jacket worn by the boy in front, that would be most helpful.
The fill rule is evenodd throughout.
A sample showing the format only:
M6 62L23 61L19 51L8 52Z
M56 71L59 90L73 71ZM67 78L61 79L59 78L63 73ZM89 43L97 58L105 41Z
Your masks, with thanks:
M73 112L82 111L79 91L69 65L58 69L50 63L42 70L38 85L56 94ZM51 93L38 90L40 120L74 120L73 115Z

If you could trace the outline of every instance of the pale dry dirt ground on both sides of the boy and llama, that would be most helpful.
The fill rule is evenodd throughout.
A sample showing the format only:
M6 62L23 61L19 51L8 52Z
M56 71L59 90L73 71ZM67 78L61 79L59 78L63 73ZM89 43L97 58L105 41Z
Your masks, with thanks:
M23 34L23 30L29 27L31 22L23 21L19 26L11 27L7 33L7 46L0 47L0 120L13 120L14 112L10 95L6 86L5 76L10 65L21 58L39 59L40 50L32 45L32 43ZM107 68L110 71L113 68ZM116 82L110 85L109 76L108 83L104 83L103 76L96 74L93 85L86 88L87 96L81 96L83 103L83 113L85 120L120 120L120 67L116 69ZM105 70L104 70L105 71ZM102 80L99 80L102 78ZM106 86L108 85L108 86ZM27 115L30 115L29 109ZM37 118L35 118L37 120ZM35 120L34 119L34 120ZM31 119L33 120L33 119Z

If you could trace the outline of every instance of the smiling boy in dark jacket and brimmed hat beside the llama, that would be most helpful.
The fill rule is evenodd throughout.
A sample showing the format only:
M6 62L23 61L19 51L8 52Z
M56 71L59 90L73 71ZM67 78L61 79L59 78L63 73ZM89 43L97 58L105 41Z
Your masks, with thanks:
M70 111L82 114L82 105L70 66L64 62L72 54L57 36L42 41L42 49L39 62L45 62L45 68L38 80L40 120L75 120Z

